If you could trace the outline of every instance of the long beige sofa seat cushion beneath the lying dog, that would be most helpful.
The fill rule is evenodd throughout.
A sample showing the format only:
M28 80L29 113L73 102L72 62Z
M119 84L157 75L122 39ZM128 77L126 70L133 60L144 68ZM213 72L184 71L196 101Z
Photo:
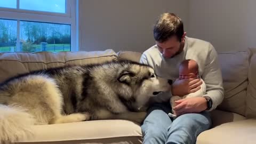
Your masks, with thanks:
M35 125L28 143L141 143L140 125L126 120Z

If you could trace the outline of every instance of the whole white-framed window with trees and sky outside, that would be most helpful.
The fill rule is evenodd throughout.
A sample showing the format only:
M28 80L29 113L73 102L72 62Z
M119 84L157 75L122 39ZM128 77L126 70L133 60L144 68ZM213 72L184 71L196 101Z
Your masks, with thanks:
M76 3L0 1L0 52L78 51Z

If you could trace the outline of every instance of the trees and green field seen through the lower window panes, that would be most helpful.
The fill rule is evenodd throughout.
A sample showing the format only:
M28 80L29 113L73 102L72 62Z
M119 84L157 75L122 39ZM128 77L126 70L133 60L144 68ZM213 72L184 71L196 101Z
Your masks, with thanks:
M17 49L17 21L0 19L0 51L70 51L70 25L20 21Z

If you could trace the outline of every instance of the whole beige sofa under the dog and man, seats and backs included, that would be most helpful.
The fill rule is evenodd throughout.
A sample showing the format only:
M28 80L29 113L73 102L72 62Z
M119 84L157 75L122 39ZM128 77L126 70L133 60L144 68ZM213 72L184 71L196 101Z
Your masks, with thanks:
M94 52L0 53L0 82L29 71L130 59L141 53L113 50ZM256 143L256 49L219 53L225 99L212 111L213 128L197 143ZM230 112L227 112L230 111ZM1 115L1 114L0 114ZM125 120L36 125L35 137L17 143L141 143L140 125Z

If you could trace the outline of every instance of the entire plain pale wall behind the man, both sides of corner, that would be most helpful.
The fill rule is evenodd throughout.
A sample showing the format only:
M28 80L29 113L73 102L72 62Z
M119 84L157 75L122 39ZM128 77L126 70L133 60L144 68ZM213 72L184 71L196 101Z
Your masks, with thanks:
M255 0L80 0L79 47L83 51L145 51L163 12L177 13L188 36L218 52L256 47Z

